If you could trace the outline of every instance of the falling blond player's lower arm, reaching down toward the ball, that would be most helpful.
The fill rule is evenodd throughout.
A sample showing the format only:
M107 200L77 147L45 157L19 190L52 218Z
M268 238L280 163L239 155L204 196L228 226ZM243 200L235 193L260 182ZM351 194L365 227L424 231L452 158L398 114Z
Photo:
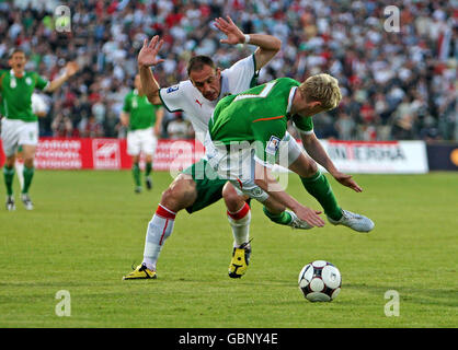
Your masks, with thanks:
M300 220L306 221L311 226L324 226L324 221L319 217L321 211L302 206L294 197L285 192L268 167L255 162L254 176L254 183L257 186L265 190L274 200L291 209Z

